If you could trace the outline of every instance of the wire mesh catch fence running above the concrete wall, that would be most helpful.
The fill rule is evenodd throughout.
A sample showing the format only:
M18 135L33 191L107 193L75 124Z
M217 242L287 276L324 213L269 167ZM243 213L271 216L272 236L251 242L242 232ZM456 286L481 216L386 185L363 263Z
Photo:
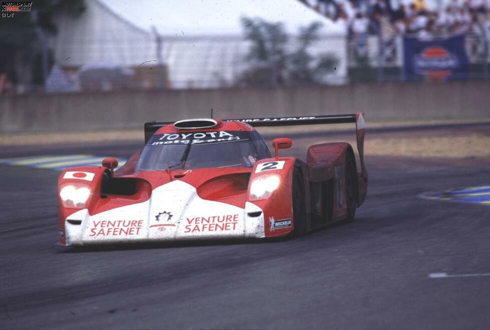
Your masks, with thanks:
M20 54L19 60L0 70L0 93L294 87L408 81L412 79L404 74L403 38L400 35L322 36L309 48L308 56L315 60L300 77L288 70L295 60L288 56L274 65L251 61L248 54L252 45L241 36L159 36L134 40L125 47L119 47L118 40L106 40L86 48L79 44L73 44L71 48L58 47L54 52L49 50L48 43L43 48L46 54L41 51L27 56L28 67L22 67ZM440 39L443 38L433 38ZM288 49L297 47L297 39L292 37ZM488 36L466 34L462 47L468 61L467 74L459 78L490 79ZM0 57L7 56L4 51L0 49ZM326 54L332 55L335 65L330 72L319 75L312 65ZM451 56L449 53L447 58L442 56L438 60L448 60ZM16 78L10 78L12 76ZM430 79L430 76L422 75L419 80Z

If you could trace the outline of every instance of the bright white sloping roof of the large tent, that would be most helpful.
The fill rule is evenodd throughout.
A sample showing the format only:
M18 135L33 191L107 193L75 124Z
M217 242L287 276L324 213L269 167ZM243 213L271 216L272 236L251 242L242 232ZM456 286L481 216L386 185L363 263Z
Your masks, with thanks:
M340 25L298 0L100 1L136 26L145 30L156 26L163 35L241 35L243 16L283 22L291 34L312 21L324 23L325 34L343 33Z

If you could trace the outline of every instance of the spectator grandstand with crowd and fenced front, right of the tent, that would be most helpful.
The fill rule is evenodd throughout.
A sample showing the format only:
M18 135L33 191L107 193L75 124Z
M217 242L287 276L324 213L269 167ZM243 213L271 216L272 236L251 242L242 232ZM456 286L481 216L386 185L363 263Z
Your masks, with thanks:
M451 64L444 56L458 57L457 64L452 64L465 73L451 78L490 76L490 0L298 1L344 26L350 81L410 80L407 72L413 73L413 60L436 53L439 63L431 62L435 65ZM421 48L414 48L415 44ZM444 50L433 48L440 46ZM427 47L435 52L424 52ZM421 74L418 78L434 76L420 67L416 71ZM445 71L441 71L446 79Z

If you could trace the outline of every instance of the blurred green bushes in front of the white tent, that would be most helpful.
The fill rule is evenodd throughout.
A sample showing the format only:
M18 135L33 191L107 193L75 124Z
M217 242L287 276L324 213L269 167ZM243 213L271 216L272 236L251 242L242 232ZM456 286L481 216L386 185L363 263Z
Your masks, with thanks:
M332 54L313 56L308 48L318 40L320 22L302 27L296 48L288 52L288 35L281 23L242 18L245 37L251 42L246 60L251 68L238 79L247 86L278 86L321 83L336 69L339 60Z

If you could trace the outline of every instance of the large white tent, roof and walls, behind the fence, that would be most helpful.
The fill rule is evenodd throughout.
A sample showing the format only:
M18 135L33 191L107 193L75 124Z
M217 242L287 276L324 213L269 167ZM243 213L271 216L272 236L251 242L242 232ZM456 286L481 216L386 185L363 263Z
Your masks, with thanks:
M107 62L155 68L163 63L174 88L229 85L247 67L249 43L241 17L282 22L294 35L301 26L322 23L313 53L333 53L340 63L330 77L347 75L345 31L298 0L85 0L78 18L61 16L54 40L62 67ZM161 50L156 42L161 36ZM293 38L294 39L294 38ZM292 42L291 46L294 46Z

